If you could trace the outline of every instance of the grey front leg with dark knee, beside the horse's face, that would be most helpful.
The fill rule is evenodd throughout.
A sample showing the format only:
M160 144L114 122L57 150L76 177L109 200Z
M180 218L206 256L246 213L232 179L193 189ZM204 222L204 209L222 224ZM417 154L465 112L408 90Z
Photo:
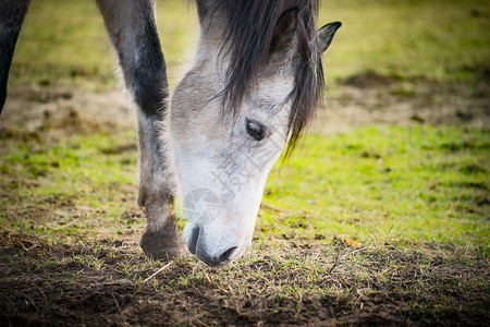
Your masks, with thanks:
M169 86L154 0L97 0L137 106L139 198L147 218L143 251L156 258L186 253L174 214L174 175L166 143Z

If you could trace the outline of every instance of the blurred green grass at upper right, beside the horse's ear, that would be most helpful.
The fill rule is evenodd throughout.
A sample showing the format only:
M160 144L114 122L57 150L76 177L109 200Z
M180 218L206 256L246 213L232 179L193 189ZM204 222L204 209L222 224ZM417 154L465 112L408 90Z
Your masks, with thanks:
M401 77L478 77L490 64L487 1L322 1L320 23L341 21L328 50L333 78L373 70Z

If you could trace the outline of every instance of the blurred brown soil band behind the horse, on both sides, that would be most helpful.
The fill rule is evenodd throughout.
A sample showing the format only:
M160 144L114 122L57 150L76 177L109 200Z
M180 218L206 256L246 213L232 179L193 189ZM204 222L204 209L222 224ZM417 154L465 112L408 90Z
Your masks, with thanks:
M365 124L464 124L490 129L490 81L401 80L375 72L329 85L313 132L339 133ZM56 86L11 88L0 120L1 137L60 137L133 126L121 90L94 93ZM42 136L46 138L46 135Z

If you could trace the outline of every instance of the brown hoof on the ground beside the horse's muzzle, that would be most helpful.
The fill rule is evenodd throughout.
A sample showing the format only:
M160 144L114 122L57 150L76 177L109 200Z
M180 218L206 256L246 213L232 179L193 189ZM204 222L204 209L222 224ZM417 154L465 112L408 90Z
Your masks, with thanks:
M145 230L139 241L139 246L147 256L154 259L168 261L189 255L182 235L170 234L164 230Z

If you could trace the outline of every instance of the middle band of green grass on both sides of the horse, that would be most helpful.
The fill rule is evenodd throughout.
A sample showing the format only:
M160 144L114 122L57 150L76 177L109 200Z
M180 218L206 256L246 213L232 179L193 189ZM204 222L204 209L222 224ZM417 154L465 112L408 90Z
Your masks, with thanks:
M19 195L19 203L1 198L8 208L3 223L75 239L118 235L134 223L131 233L139 232L140 216L130 222L122 218L136 205L135 149L111 150L135 143L131 130L77 135L46 148L15 141L3 156L1 186L15 182L10 195ZM453 242L488 255L489 147L490 133L477 129L365 126L308 135L290 161L278 162L270 173L256 238L315 242L348 237L371 245ZM19 220L29 204L41 205L53 195L69 198L73 211L82 207L83 220L71 216L70 205L61 205L57 217L48 208L44 219Z

